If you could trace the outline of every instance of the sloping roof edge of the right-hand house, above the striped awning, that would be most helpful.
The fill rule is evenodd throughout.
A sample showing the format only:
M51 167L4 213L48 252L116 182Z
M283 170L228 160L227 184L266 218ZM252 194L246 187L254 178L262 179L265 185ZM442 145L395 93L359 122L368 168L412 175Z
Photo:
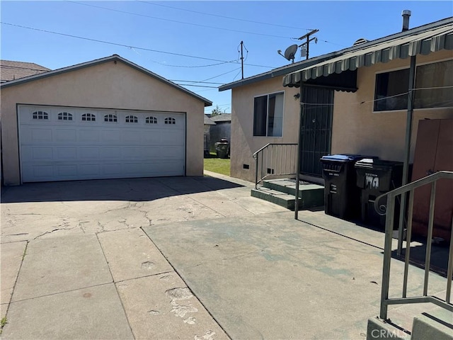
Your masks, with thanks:
M361 56L359 59L360 59L360 62L362 62L362 57L365 57L365 55L362 55L360 53L360 51L367 49L367 47L374 47L376 45L383 44L384 42L394 42L394 44L396 46L401 46L401 44L397 44L399 39L408 38L408 37L411 37L413 35L418 35L420 33L424 33L424 32L433 30L435 28L440 28L441 26L450 26L450 25L452 25L452 23L453 23L453 17L445 18L445 19L442 19L440 21L435 21L434 23L429 23L427 25L419 26L417 28L411 28L410 30L406 30L406 31L403 31L403 32L399 32L399 33L395 33L395 34L392 34L392 35L388 35L388 36L386 36L384 38L379 38L379 39L376 39L376 40L367 41L367 42L364 42L364 43L362 43L360 45L351 46L351 47L345 48L343 50L339 50L339 51L336 51L336 52L331 52L331 53L328 53L328 54L325 54L325 55L320 55L318 57L313 57L313 58L310 58L309 60L303 60L302 62L294 62L294 64L289 64L289 65L286 65L286 66L283 66L283 67L278 67L278 68L273 69L273 70L271 70L269 72L265 72L265 73L262 73L262 74L257 74L256 76L248 77L246 79L241 79L239 81L234 81L234 82L231 82L229 84L224 84L222 86L219 86L219 91L234 89L235 87L239 87L239 86L243 86L243 85L247 85L247 84L253 84L253 83L256 83L258 81L263 81L263 80L271 79L271 78L274 78L274 77L285 76L286 74L290 74L290 73L293 73L293 72L294 73L295 72L299 72L302 69L304 69L304 70L310 69L310 67L312 67L313 69L316 70L315 71L316 77L321 77L322 75L326 75L326 74L327 75L328 74L333 74L336 71L333 71L331 73L328 73L330 71L326 71L327 72L326 74L323 73L325 71L325 69L328 69L328 66L323 67L323 68L317 67L317 66L319 64L321 64L321 63L323 63L323 65L325 65L325 64L329 65L330 63L328 63L328 60L333 60L333 58L336 58L336 57L340 57L340 59L341 59L341 57L343 57L347 53L352 53L352 52L357 52L357 55ZM421 42L421 40L417 40L417 41ZM431 41L432 41L432 43L434 45L435 44L441 45L441 43L443 41L444 47L435 47L435 48L439 48L439 50L441 48L446 48L446 49L451 50L452 46L453 46L453 35L447 29L444 33L442 33L439 36L439 38L435 38L435 40L431 40ZM426 44L426 43L423 44L423 46L426 46L426 45L428 45L428 44ZM395 50L396 50L396 48L398 48L398 47L395 47ZM420 46L415 47L415 48L420 48ZM427 52L425 50L425 48L426 47L423 47L423 52ZM418 53L420 53L420 52L418 52ZM374 57L377 57L377 55L374 55ZM389 60L391 60L392 57L393 56L390 56ZM343 59L345 59L345 58L343 58ZM384 59L385 59L385 57L384 57ZM389 61L389 60L387 60L387 61ZM334 65L331 66L331 69L333 69L333 66ZM365 66L365 64L362 65L362 66ZM349 68L349 70L350 69L351 68ZM354 68L352 68L352 69L354 69ZM287 79L285 79L285 81L286 80ZM293 86L296 86L294 84L294 81L292 81L292 84L293 84ZM287 81L286 85L289 85L289 81Z

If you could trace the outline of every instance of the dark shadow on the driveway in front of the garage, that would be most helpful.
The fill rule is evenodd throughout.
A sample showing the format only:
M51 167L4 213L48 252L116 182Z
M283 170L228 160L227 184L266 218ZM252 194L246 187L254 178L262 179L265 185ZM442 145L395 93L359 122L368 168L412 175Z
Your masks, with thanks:
M25 183L1 188L1 203L79 200L156 200L243 186L210 176Z

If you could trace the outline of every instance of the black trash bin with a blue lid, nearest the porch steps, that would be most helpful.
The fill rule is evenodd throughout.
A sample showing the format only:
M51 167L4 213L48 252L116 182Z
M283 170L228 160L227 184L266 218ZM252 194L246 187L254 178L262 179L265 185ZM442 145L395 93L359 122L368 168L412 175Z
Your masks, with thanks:
M324 179L324 211L346 220L360 217L360 188L354 164L366 156L333 154L321 157Z

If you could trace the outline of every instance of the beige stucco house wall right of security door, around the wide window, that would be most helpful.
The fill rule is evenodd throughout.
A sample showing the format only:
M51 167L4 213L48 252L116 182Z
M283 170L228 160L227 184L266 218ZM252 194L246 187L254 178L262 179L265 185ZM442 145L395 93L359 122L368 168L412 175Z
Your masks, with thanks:
M452 51L428 56L418 55L417 64L447 60ZM409 67L410 59L394 60L357 70L358 91L354 94L336 91L333 106L332 154L371 154L381 159L403 162L407 110L373 112L376 74ZM366 103L362 103L366 102ZM411 162L417 138L418 120L453 118L453 108L414 110L411 140Z

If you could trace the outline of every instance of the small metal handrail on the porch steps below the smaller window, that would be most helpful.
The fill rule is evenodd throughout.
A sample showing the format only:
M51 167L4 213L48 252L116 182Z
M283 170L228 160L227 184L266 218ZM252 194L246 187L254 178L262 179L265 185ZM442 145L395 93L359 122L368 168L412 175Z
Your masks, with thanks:
M275 147L275 155L274 155L274 147ZM284 149L285 147L285 149ZM287 147L291 147L288 149ZM280 164L277 162L277 158L279 156L278 152L280 149ZM283 152L284 149L284 152ZM294 151L293 151L294 149ZM270 150L270 152L269 152ZM284 155L283 155L284 153ZM270 155L269 155L270 154ZM294 154L294 157L292 157ZM268 143L264 147L261 147L256 152L253 152L253 159L255 159L255 188L258 188L258 183L263 181L266 177L273 175L273 176L282 176L282 175L294 175L296 174L296 159L297 159L297 144L296 143ZM274 161L275 158L275 162ZM261 166L260 165L261 161ZM266 164L266 166L264 166ZM263 169L272 169L273 172L263 174ZM260 169L260 176L258 176L258 172ZM259 177L259 179L258 179Z

